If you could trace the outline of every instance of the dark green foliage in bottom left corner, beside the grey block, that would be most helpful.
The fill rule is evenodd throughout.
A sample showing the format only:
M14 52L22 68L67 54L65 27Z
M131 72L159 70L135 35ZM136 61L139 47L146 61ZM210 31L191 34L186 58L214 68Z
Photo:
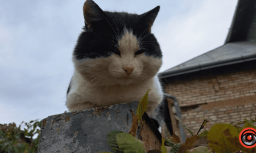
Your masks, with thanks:
M22 122L18 127L15 123L0 124L0 152L38 152L41 125L42 121L38 120Z

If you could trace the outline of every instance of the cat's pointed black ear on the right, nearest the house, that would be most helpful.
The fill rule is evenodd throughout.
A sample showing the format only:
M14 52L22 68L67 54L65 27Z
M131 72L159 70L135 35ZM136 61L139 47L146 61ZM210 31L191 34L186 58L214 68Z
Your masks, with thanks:
M156 16L158 15L158 12L160 10L160 6L156 6L152 10L143 13L142 16L142 22L146 23L148 26L148 31L151 32L151 27L155 21Z

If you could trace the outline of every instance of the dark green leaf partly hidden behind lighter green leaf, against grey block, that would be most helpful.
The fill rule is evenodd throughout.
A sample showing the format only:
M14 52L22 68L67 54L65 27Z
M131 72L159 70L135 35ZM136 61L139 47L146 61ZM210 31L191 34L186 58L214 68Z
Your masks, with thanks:
M108 145L114 152L122 151L117 145L117 134L123 133L123 131L110 131L107 135Z

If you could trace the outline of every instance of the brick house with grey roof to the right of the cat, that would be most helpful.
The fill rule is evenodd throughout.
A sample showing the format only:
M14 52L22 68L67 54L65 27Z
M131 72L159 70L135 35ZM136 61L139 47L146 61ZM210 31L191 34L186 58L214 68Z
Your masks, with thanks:
M206 118L209 130L216 123L256 117L255 9L253 0L238 1L224 45L160 73L166 93L177 97L182 120L193 133ZM175 118L171 120L179 134ZM187 130L185 135L190 136Z

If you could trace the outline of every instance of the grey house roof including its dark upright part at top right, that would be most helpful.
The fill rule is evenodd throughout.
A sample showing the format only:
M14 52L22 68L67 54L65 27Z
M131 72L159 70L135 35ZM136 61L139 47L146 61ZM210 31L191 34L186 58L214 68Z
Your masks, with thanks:
M213 67L256 60L256 3L239 0L225 44L159 73L168 78Z

